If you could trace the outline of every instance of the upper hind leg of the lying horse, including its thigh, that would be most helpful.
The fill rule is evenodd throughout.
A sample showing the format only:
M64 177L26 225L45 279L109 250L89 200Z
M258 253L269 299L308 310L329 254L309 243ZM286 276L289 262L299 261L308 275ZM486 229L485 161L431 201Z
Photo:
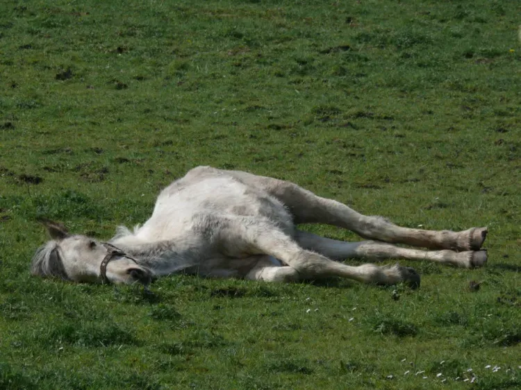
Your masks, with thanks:
M487 234L487 228L471 228L461 232L402 228L382 217L360 214L347 205L322 198L287 181L240 171L227 172L243 183L261 187L279 198L289 207L295 223L328 223L352 230L368 239L456 251L477 251Z

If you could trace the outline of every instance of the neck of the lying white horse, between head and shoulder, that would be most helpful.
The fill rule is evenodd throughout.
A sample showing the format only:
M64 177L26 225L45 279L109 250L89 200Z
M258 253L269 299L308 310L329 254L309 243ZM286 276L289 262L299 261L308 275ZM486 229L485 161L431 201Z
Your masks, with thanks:
M138 264L146 266L156 275L168 275L197 266L199 258L190 248L182 248L174 241L144 243L137 240L116 239L112 244L126 255L133 257Z

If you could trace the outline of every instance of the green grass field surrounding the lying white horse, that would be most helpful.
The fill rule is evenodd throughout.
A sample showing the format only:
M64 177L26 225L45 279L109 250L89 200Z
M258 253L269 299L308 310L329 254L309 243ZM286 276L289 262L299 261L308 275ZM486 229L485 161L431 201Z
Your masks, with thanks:
M0 388L519 389L520 15L518 0L2 1ZM403 226L488 226L489 264L404 262L417 291L29 275L37 217L107 239L203 164Z

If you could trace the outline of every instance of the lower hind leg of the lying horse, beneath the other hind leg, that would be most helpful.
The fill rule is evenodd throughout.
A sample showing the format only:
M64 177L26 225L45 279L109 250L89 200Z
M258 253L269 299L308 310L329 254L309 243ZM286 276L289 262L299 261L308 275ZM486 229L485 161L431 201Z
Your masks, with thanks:
M302 248L315 251L334 260L345 260L349 258L367 258L370 260L427 260L461 268L483 266L487 261L486 251L455 252L449 249L442 251L422 251L420 249L402 248L381 241L338 241L299 230L297 230L295 234L295 240Z

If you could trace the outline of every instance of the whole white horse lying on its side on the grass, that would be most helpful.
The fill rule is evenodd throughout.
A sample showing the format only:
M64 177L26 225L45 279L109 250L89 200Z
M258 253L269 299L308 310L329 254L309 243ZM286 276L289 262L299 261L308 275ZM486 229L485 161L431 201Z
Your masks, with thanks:
M270 282L341 276L418 287L420 275L408 267L349 266L333 260L402 258L468 269L487 260L486 251L480 251L486 228L461 232L402 228L287 181L211 167L192 169L163 189L143 226L133 232L119 227L107 243L69 235L59 223L43 222L52 240L36 251L33 275L74 282L146 286L152 278L183 271ZM297 230L298 223L329 223L373 241L328 239Z

